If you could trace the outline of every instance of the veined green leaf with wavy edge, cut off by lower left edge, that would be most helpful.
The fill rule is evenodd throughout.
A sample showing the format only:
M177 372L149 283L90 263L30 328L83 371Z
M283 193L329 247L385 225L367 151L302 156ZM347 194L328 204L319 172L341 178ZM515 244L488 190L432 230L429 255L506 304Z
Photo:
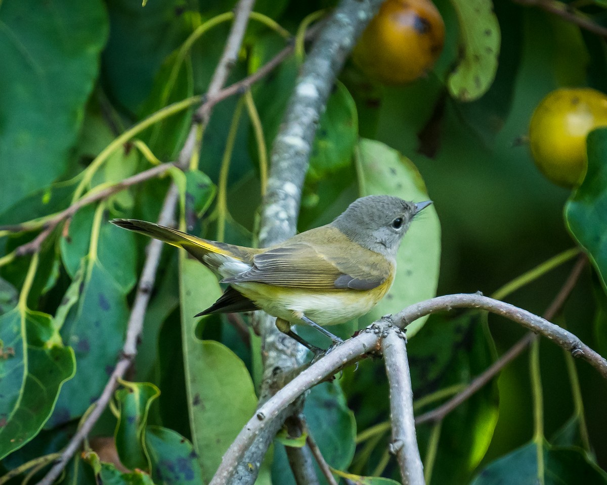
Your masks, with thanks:
M0 316L0 458L38 434L74 367L50 315L15 307Z

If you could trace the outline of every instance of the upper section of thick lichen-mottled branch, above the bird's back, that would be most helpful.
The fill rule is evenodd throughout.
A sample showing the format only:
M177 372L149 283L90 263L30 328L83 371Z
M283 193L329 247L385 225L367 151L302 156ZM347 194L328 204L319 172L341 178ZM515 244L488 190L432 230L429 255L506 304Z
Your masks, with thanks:
M271 246L295 235L308 158L337 73L381 0L342 0L314 42L274 139L259 241Z

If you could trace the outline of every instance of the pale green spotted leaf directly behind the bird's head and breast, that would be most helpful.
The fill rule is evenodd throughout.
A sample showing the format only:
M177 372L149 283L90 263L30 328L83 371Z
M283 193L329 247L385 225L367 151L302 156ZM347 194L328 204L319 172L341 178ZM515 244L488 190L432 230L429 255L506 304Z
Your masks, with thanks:
M361 139L358 164L361 195L387 194L415 202L429 199L424 181L413 163L378 141ZM441 228L436 210L430 206L413 221L402 241L396 256L396 278L392 288L361 318L361 325L435 296L440 256ZM425 321L426 318L420 318L410 324L407 335L415 335Z

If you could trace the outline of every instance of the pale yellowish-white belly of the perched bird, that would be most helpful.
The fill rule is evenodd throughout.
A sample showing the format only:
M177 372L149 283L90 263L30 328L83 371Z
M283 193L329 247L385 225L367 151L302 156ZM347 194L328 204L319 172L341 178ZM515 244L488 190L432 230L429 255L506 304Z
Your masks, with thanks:
M233 286L270 315L293 324L303 323L301 316L305 315L325 326L344 323L367 313L390 289L390 280L367 291L300 290L263 283L237 283Z

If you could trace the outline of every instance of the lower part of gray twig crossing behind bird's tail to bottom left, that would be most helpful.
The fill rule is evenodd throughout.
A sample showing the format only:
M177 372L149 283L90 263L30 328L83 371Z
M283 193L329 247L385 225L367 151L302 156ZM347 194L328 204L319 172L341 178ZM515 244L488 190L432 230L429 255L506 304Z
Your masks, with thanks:
M160 216L158 217L158 224L163 224L164 226L171 224L171 221L174 219L177 199L178 192L173 184L164 198L164 204ZM143 329L143 319L148 307L150 289L154 285L161 249L162 242L158 241L158 239L152 239L148 244L148 256L146 256L143 272L141 273L141 278L137 287L137 295L135 295L135 303L131 310L131 316L129 317L123 352L116 367L114 367L114 372L110 375L106 387L104 387L101 396L97 400L97 403L95 403L94 409L86 416L80 429L73 435L63 452L61 452L61 458L56 461L55 465L53 465L45 477L39 481L38 485L51 485L53 481L59 477L66 467L67 462L73 457L73 454L78 448L80 448L84 438L89 435L90 430L92 430L95 423L97 423L101 413L106 409L107 403L109 403L110 399L112 399L112 395L114 395L114 390L118 387L118 380L123 378L124 373L131 367L132 360L137 352L137 340Z

